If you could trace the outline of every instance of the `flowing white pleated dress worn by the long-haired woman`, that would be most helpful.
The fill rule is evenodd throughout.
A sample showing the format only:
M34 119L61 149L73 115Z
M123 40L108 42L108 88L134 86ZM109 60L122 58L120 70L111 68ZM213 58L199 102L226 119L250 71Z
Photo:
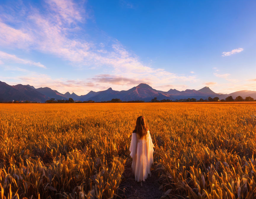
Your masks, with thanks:
M153 164L154 145L149 131L146 137L139 139L136 133L132 133L132 141L130 145L130 155L132 157L132 172L135 180L145 181L148 174L151 174L150 168Z

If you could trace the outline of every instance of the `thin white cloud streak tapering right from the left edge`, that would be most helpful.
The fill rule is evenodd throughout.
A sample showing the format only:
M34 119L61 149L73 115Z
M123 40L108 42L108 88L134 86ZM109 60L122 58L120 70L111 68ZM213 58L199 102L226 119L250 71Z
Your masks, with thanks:
M0 64L4 64L3 61L1 60L7 60L10 62L14 62L14 63L20 63L20 64L28 64L28 65L34 65L40 68L46 68L43 64L41 64L40 62L33 62L31 60L24 60L21 59L19 57L17 57L14 54L8 54L6 52L0 51Z

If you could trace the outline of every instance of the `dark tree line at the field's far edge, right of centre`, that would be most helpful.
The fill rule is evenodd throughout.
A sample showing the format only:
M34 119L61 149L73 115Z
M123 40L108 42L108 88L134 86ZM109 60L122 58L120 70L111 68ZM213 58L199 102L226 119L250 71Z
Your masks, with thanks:
M154 99L151 100L151 102L254 102L256 100L254 100L252 97L246 97L245 99L243 99L241 96L236 97L235 99L233 99L232 96L228 96L226 97L226 99L222 99L220 100L219 97L208 97L208 100L204 100L204 99L200 99L200 100L196 100L195 98L188 98L188 99L180 99L180 100L157 100L157 98L155 97Z

